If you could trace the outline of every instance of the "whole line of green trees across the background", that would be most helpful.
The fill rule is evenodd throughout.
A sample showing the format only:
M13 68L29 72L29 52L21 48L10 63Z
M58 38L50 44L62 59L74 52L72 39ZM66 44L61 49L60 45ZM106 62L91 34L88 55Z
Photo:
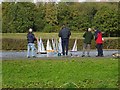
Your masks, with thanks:
M118 36L118 2L3 2L2 32L58 32L66 24L72 32L97 28Z

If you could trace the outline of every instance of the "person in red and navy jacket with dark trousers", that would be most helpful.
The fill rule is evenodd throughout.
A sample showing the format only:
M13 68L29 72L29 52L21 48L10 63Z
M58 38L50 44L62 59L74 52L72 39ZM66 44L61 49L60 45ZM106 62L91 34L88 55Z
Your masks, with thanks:
M95 31L95 41L96 41L96 48L98 51L98 55L96 57L103 57L103 40L102 40L102 33L99 30Z

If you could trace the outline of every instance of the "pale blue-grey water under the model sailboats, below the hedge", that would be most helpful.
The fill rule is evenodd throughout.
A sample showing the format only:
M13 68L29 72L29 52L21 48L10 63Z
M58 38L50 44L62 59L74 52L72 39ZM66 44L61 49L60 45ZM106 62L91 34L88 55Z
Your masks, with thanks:
M117 53L117 50L104 50L104 57L112 57L113 53ZM21 51L21 52L16 52L16 51L2 51L0 52L0 58L2 58L2 60L8 60L8 59L25 59L26 58L26 51ZM73 57L81 57L82 55L82 51L78 51L78 52L71 52L71 54L73 55ZM70 55L70 52L69 52ZM97 51L96 50L92 50L90 52L90 56L91 57L95 57L97 55ZM37 54L36 55L37 58L47 58L47 57L52 57L52 58L58 58L57 54L55 53L51 53L49 55L41 55L41 54Z

